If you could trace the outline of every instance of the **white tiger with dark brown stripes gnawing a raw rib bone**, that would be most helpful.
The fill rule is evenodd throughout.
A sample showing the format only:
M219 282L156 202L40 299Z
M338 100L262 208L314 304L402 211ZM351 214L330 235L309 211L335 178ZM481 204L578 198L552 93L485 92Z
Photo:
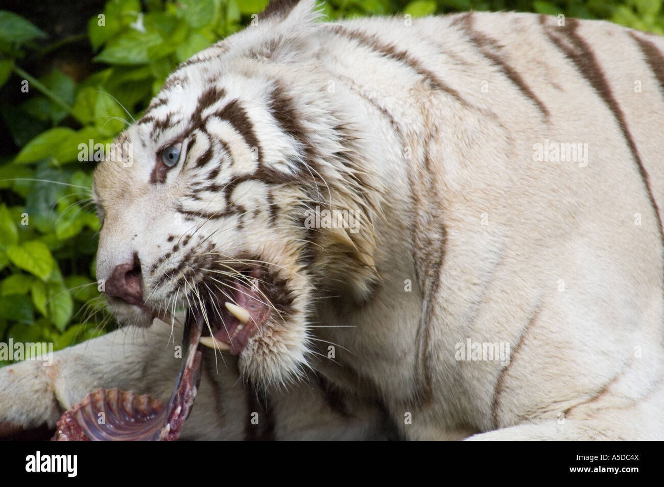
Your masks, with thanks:
M182 64L118 139L129 164L96 170L112 311L193 307L230 349L185 437L242 437L236 356L277 438L664 439L664 40L313 7L273 1ZM167 397L159 326L0 370L0 420L53 425L100 385Z

